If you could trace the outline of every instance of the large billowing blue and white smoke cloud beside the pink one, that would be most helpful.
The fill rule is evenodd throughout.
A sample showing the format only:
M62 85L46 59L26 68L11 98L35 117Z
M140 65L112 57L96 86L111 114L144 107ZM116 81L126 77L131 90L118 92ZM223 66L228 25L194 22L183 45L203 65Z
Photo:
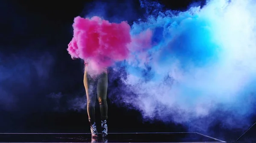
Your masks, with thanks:
M134 22L131 34L151 29L153 46L136 53L146 58L120 64L128 73L119 81L125 86L109 92L112 97L122 90L113 102L138 109L145 120L202 130L215 121L227 129L249 126L256 96L256 3L209 0L183 12L148 1L141 6L147 17Z

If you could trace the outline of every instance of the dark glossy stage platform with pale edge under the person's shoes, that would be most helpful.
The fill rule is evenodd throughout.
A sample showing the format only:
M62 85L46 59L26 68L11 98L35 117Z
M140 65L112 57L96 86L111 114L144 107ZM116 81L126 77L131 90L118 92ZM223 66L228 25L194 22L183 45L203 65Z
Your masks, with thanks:
M63 133L0 133L0 143L226 143L197 132L109 133L108 139L92 140L91 135Z

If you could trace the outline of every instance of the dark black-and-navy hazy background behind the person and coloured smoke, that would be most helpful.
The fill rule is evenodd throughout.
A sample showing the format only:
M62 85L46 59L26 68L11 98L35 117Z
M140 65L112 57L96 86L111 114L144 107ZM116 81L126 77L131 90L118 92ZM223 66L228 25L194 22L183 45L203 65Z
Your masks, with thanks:
M192 0L159 2L183 11ZM138 0L0 1L0 132L90 132L83 102L83 62L72 60L66 49L73 36L73 18L93 14L99 5L105 6L105 16L113 22L118 17L131 24L145 13ZM109 90L119 84L116 78ZM143 121L140 112L109 99L108 103L109 132L187 131L184 125ZM99 117L98 106L96 111ZM242 133L222 130L218 123L211 130L212 136L225 140ZM255 132L254 127L244 138Z

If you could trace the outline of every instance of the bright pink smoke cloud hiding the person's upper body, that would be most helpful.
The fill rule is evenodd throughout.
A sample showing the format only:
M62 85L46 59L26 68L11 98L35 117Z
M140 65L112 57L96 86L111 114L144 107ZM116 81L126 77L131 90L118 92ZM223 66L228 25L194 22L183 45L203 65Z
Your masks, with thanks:
M94 70L125 60L131 52L151 48L152 31L131 36L131 27L125 21L111 23L100 17L75 17L73 29L68 53L89 62Z

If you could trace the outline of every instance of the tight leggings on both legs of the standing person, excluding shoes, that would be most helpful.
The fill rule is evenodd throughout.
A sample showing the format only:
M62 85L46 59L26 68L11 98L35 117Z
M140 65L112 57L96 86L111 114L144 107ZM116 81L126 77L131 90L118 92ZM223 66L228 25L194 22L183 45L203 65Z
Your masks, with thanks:
M108 73L107 70L101 73L96 78L92 78L88 74L88 67L84 68L84 88L87 96L87 114L89 122L95 122L95 102L96 98L99 100L99 109L101 113L101 120L108 119L108 104L107 104L107 90L108 90ZM94 91L97 91L97 95Z

